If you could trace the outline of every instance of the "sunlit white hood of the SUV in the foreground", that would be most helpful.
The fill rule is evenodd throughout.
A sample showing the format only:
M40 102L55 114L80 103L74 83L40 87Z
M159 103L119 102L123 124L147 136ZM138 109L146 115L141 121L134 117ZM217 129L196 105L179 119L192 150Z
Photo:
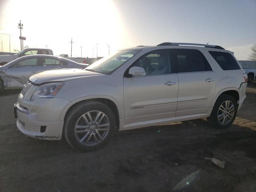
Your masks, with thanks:
M86 71L82 69L57 69L44 71L38 74L35 74L29 78L30 81L36 84L41 84L45 82L51 81L67 81L73 80L76 78L82 78L86 76L94 76L94 75L104 75L101 73Z

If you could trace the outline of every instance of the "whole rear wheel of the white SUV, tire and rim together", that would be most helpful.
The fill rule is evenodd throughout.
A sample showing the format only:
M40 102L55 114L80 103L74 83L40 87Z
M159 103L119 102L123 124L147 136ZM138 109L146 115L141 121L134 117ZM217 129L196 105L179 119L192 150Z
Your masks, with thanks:
M207 120L215 128L228 128L236 118L237 108L236 100L232 96L222 95L216 101L212 114Z

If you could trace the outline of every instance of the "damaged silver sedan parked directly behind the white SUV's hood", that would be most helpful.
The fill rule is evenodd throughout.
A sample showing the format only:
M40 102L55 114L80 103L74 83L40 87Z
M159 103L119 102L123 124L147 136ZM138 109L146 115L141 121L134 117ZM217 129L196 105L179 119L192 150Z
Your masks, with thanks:
M53 69L86 68L88 64L79 64L66 58L52 55L22 56L0 66L0 92L4 89L22 88L29 77Z

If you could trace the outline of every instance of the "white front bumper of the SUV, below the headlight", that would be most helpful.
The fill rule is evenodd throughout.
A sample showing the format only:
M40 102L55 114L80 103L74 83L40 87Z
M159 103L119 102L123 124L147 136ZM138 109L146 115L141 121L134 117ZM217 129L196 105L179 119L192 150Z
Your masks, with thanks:
M61 120L64 108L69 104L62 98L41 98L31 101L30 97L18 96L14 104L17 115L16 126L32 138L61 140L64 121Z

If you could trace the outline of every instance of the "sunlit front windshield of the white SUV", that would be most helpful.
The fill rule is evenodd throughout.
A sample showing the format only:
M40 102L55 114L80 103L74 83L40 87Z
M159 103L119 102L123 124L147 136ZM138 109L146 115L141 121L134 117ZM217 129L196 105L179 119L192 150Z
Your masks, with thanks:
M88 66L85 70L91 70L98 73L110 74L112 71L116 70L119 66L124 64L134 55L136 55L140 50L122 50L116 52L114 55L109 57L104 57L95 63Z

